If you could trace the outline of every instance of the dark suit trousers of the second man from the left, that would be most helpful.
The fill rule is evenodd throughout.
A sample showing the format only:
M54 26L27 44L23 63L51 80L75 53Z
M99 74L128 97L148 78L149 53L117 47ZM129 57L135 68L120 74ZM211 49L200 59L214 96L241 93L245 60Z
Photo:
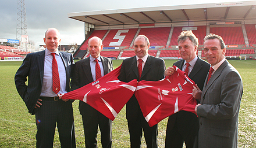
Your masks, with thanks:
M87 106L92 108L91 106ZM97 110L91 110L92 114L96 116L90 116L82 114L83 125L84 125L84 136L86 140L86 148L97 147L97 133L98 127L101 131L101 145L102 148L111 148L112 145L112 121L104 116Z

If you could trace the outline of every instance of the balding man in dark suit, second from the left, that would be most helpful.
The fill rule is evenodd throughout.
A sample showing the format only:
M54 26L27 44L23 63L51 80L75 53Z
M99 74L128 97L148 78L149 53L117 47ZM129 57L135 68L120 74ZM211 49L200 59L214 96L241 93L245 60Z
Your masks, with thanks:
M104 76L107 73L113 71L112 60L110 58L102 57L100 55L102 49L103 45L100 38L94 36L93 38L89 39L88 50L90 53L90 57L76 62L74 68L74 76L71 81L72 90L76 90L77 88L86 86L87 84L96 80L96 60L98 60L98 64L101 69L101 76ZM83 101L79 102L79 110L83 119L86 147L97 147L98 126L101 130L102 147L111 147L112 121Z

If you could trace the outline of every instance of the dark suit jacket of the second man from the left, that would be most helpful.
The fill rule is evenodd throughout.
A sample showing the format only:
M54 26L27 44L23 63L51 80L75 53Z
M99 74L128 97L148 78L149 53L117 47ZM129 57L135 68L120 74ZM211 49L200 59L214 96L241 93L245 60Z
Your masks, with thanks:
M104 75L113 71L113 63L110 58L101 56L102 65L104 68ZM90 58L86 58L77 61L74 65L74 75L71 80L71 90L76 90L77 88L86 86L87 84L93 82L93 76L91 75ZM95 116L95 112L91 112L93 108L83 101L79 102L80 114L84 116Z

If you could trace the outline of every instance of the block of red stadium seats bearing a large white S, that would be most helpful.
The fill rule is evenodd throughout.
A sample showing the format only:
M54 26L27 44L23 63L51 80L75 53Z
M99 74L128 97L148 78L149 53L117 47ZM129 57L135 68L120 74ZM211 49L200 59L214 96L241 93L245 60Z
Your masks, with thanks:
M138 29L112 29L103 40L104 47L130 46Z

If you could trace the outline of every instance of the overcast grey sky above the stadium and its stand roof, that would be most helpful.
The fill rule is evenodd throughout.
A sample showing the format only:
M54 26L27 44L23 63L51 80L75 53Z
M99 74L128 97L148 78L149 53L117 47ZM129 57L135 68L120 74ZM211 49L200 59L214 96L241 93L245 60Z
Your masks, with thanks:
M17 0L20 1L20 0ZM0 5L0 39L16 39L17 1L2 1ZM249 0L250 1L250 0ZM84 23L67 17L67 13L94 10L144 8L155 6L193 5L201 3L240 2L237 0L26 0L27 35L35 43L35 48L44 45L47 28L57 28L61 32L61 45L84 41Z

